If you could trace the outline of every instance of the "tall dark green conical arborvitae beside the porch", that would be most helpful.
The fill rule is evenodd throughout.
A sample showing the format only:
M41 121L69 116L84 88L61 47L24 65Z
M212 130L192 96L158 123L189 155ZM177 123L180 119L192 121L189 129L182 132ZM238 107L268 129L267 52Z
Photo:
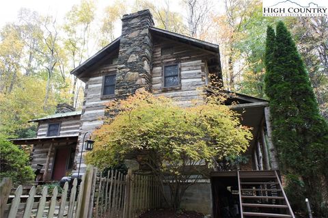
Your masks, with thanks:
M323 193L327 193L323 183L328 178L328 126L319 115L308 72L284 23L277 23L273 37L269 27L265 81L273 143L282 171L303 180L305 197L310 198L320 217L325 213Z

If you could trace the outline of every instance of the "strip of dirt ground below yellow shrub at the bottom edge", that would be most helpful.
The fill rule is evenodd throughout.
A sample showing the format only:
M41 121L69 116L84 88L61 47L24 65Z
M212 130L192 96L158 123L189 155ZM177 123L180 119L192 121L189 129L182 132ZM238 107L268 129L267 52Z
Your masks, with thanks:
M150 210L146 213L143 213L139 218L203 218L204 215L200 213L195 213L191 211L183 211L178 213L178 215L174 214L173 210Z

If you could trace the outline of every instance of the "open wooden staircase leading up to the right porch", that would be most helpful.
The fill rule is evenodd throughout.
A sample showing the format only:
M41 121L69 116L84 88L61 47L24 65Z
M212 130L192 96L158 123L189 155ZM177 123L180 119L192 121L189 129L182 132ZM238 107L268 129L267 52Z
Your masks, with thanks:
M237 175L241 218L295 218L277 171L238 171Z

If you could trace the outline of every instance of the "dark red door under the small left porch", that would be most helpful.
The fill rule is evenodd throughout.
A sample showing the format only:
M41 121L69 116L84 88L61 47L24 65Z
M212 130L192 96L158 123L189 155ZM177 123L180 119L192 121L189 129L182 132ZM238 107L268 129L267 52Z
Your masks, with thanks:
M53 163L53 180L60 180L66 174L69 148L57 148Z

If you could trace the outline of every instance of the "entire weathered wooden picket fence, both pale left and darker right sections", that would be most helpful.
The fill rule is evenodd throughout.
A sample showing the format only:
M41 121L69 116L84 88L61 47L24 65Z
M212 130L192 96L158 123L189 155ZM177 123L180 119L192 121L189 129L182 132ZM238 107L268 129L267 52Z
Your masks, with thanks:
M102 177L101 173L97 176L97 172L96 168L88 166L81 185L74 179L69 193L66 182L61 195L57 187L51 195L47 187L42 189L41 196L36 195L35 186L28 195L22 195L23 186L20 185L9 202L12 184L9 178L4 178L0 187L0 217L135 218L161 206L160 186L154 176L131 171L124 175L111 170L107 177Z

